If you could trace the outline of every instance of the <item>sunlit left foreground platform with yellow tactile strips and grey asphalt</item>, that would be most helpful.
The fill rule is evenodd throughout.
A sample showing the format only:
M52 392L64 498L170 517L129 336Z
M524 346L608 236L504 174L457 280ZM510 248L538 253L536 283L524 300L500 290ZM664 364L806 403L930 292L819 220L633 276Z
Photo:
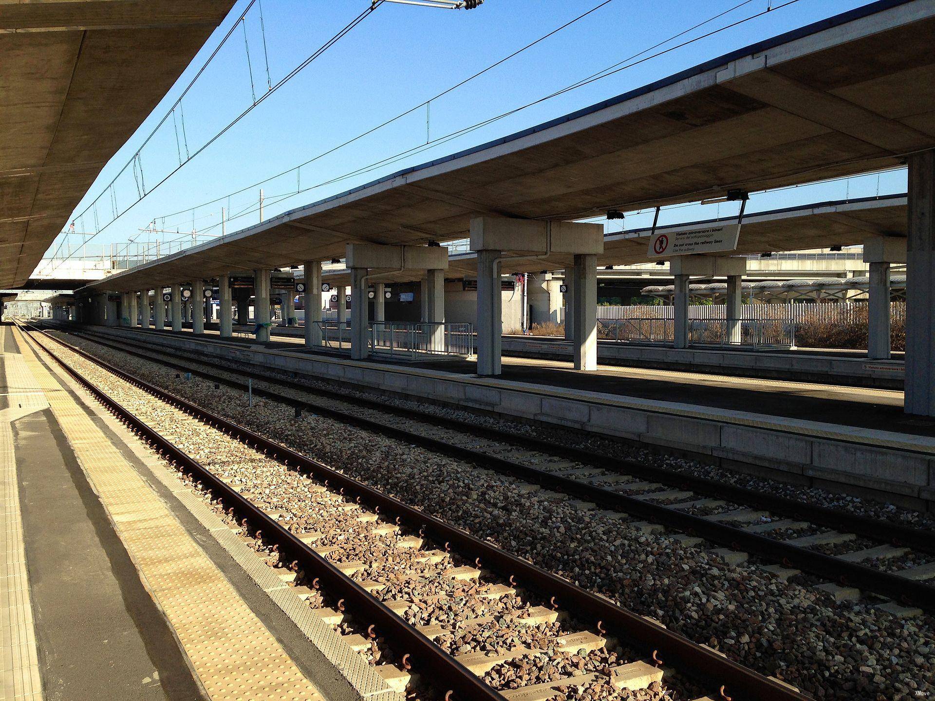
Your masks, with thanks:
M311 680L335 675L222 547L226 526L8 324L0 467L0 696L325 697Z

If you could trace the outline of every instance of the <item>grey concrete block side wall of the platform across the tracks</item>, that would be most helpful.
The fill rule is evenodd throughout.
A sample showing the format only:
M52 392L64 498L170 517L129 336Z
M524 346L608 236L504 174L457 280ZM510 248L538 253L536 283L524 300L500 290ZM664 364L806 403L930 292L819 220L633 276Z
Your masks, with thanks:
M472 407L521 420L552 423L641 446L688 454L714 465L837 492L935 509L935 438L792 421L754 413L701 408L611 394L583 393L437 370L375 365L284 350L253 350L134 329L99 328L113 337L153 346L210 353L239 363L274 367L356 385L376 393Z

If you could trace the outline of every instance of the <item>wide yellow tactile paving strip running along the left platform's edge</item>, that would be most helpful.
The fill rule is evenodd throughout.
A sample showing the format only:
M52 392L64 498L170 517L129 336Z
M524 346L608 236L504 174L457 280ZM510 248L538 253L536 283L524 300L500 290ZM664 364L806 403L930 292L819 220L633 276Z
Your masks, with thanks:
M321 699L275 637L18 334L23 359L211 699Z

